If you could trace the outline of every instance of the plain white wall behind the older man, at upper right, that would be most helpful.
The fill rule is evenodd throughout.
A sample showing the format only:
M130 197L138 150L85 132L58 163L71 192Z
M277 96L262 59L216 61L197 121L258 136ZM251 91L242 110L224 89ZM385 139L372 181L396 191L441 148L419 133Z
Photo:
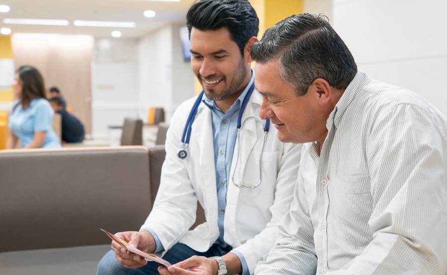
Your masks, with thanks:
M333 26L359 68L447 114L446 0L334 0Z

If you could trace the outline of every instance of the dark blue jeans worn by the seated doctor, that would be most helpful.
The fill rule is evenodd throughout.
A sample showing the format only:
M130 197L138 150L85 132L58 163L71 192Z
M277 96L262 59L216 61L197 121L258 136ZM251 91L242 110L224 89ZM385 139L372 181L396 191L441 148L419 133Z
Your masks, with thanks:
M178 262L184 261L192 256L222 256L231 251L231 246L227 245L222 247L219 244L214 244L206 252L198 252L181 243L177 243L171 249L169 249L166 254L164 254L163 259L171 264L176 264ZM98 275L157 275L157 268L160 264L155 262L148 262L144 267L138 269L128 269L123 267L115 257L115 252L110 250L98 264Z

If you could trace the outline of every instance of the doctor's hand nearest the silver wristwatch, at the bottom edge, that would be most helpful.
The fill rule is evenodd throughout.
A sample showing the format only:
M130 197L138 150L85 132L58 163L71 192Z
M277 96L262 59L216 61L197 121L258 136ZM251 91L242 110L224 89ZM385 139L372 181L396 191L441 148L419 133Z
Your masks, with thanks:
M165 267L158 268L158 273L161 275L215 275L218 271L219 265L216 260L200 256L193 256L170 266L167 270Z

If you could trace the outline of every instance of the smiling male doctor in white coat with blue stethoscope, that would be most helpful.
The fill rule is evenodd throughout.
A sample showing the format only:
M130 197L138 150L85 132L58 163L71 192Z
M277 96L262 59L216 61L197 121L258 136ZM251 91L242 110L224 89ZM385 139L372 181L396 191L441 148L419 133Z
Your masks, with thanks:
M117 233L172 264L201 256L182 266L191 272L253 274L273 247L280 219L292 202L300 145L280 142L272 125L262 147L266 121L258 115L262 97L253 91L250 68L258 23L247 0L202 0L191 6L187 14L191 68L204 95L197 101L187 155L179 150L197 97L181 104L172 117L161 183L149 217L139 232ZM259 181L256 188L247 188ZM236 186L241 183L247 187ZM207 222L189 230L196 219L197 200ZM158 267L112 242L98 274L168 274Z

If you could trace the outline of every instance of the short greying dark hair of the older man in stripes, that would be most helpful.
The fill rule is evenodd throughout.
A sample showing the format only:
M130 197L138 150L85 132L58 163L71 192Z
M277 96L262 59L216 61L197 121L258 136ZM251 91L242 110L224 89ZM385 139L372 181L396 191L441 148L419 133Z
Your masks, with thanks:
M324 15L292 15L266 30L251 48L259 63L279 59L280 74L304 95L317 78L346 89L357 73L354 57Z

